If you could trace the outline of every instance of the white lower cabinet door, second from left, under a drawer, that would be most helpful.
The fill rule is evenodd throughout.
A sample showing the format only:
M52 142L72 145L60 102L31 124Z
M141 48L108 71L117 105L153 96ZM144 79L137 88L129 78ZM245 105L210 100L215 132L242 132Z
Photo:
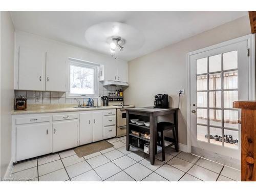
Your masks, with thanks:
M52 152L67 150L78 145L78 120L52 123Z

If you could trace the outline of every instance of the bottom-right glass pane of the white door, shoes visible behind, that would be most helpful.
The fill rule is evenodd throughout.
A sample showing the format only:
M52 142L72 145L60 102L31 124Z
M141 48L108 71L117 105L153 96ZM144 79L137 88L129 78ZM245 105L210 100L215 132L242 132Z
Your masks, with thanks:
M238 149L238 131L224 129L224 146Z

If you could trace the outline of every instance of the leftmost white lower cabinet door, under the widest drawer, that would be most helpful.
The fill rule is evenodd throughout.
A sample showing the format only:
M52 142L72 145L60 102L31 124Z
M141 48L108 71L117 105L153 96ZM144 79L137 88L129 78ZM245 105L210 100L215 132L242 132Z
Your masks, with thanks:
M50 122L16 126L16 161L51 153L51 131Z

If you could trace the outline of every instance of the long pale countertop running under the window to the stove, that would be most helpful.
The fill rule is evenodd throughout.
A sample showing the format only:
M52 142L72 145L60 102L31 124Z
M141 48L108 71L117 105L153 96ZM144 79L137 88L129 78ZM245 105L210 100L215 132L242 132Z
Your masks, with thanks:
M31 104L27 106L26 111L12 111L12 115L17 114L34 114L34 113L57 113L57 112L75 112L75 111L91 111L91 110L108 110L120 108L133 108L134 105L129 106L100 106L97 108L74 108L77 104Z

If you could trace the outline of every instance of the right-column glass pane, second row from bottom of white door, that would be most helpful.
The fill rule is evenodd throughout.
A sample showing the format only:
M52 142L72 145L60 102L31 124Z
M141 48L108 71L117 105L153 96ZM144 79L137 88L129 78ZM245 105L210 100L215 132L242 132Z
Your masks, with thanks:
M224 126L238 129L238 111L224 110Z

